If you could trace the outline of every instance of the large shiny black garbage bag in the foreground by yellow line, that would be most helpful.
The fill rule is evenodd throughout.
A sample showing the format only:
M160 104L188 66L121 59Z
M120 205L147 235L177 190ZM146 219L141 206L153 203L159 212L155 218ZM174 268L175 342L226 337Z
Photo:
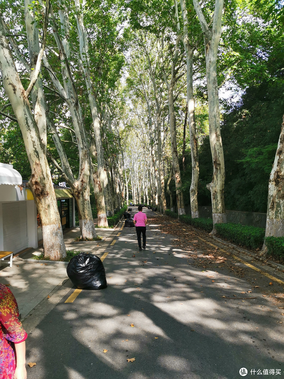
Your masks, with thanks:
M80 253L70 259L67 275L80 290L103 290L108 287L106 273L100 258L94 254Z

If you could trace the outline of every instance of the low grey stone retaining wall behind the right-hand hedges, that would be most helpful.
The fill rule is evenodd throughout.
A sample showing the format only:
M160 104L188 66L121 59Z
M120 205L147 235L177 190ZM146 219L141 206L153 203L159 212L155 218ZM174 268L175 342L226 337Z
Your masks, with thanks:
M185 210L186 214L190 215L190 205L187 205ZM212 218L212 207L198 207L198 210L200 217ZM242 225L253 225L265 229L266 213L226 210L226 214L227 222Z

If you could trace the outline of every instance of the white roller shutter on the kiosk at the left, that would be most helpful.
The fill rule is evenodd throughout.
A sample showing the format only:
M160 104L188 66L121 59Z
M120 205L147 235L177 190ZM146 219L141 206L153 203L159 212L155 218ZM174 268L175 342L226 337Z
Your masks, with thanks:
M4 251L17 253L28 247L25 201L2 204Z

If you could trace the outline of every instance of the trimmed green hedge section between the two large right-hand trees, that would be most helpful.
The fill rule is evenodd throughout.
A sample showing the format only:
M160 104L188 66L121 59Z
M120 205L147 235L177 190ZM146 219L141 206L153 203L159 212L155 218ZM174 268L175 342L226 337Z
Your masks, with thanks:
M261 247L264 243L265 229L241 224L215 224L218 235L247 247Z

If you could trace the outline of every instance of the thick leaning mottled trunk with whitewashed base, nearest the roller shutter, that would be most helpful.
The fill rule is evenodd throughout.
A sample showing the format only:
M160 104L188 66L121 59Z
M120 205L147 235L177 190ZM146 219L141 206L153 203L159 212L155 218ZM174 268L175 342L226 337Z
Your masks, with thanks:
M29 184L41 215L44 254L51 260L59 260L66 257L66 249L45 147L1 24L0 70L3 86L17 117L31 165Z

